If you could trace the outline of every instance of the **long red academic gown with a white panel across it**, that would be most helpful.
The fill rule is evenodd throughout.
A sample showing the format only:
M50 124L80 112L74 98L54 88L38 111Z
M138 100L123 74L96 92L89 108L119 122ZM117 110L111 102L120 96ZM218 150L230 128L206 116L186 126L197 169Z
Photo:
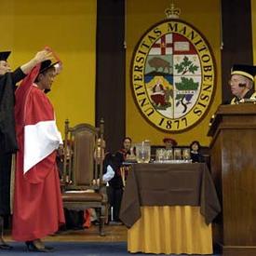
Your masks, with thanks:
M33 82L39 67L16 92L17 154L13 239L28 241L55 233L64 223L56 149L61 138L45 93Z

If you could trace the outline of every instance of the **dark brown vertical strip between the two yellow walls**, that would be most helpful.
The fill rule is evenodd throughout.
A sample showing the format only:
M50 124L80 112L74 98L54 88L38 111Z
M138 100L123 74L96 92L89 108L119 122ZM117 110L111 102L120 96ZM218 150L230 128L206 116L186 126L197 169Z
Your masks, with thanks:
M126 133L124 40L125 0L98 0L95 120L98 125L104 119L107 149L112 153Z

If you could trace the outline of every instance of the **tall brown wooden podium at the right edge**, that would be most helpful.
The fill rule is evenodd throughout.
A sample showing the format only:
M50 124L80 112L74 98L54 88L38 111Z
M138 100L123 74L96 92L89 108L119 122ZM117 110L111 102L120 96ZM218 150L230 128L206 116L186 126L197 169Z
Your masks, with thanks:
M223 256L255 256L256 105L221 105L208 135L210 169L222 204L214 242Z

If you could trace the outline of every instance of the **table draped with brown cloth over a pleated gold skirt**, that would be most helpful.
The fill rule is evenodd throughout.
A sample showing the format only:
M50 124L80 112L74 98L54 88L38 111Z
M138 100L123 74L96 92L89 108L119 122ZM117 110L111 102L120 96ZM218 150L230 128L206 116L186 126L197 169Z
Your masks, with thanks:
M210 223L220 211L206 164L134 164L120 219L130 252L211 254Z

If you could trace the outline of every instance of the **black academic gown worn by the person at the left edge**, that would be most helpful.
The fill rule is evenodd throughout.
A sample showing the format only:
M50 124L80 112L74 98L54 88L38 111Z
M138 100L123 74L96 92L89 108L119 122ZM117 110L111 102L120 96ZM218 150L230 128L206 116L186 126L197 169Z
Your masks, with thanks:
M9 213L11 154L18 149L14 122L15 85L25 74L18 68L0 75L0 215Z

